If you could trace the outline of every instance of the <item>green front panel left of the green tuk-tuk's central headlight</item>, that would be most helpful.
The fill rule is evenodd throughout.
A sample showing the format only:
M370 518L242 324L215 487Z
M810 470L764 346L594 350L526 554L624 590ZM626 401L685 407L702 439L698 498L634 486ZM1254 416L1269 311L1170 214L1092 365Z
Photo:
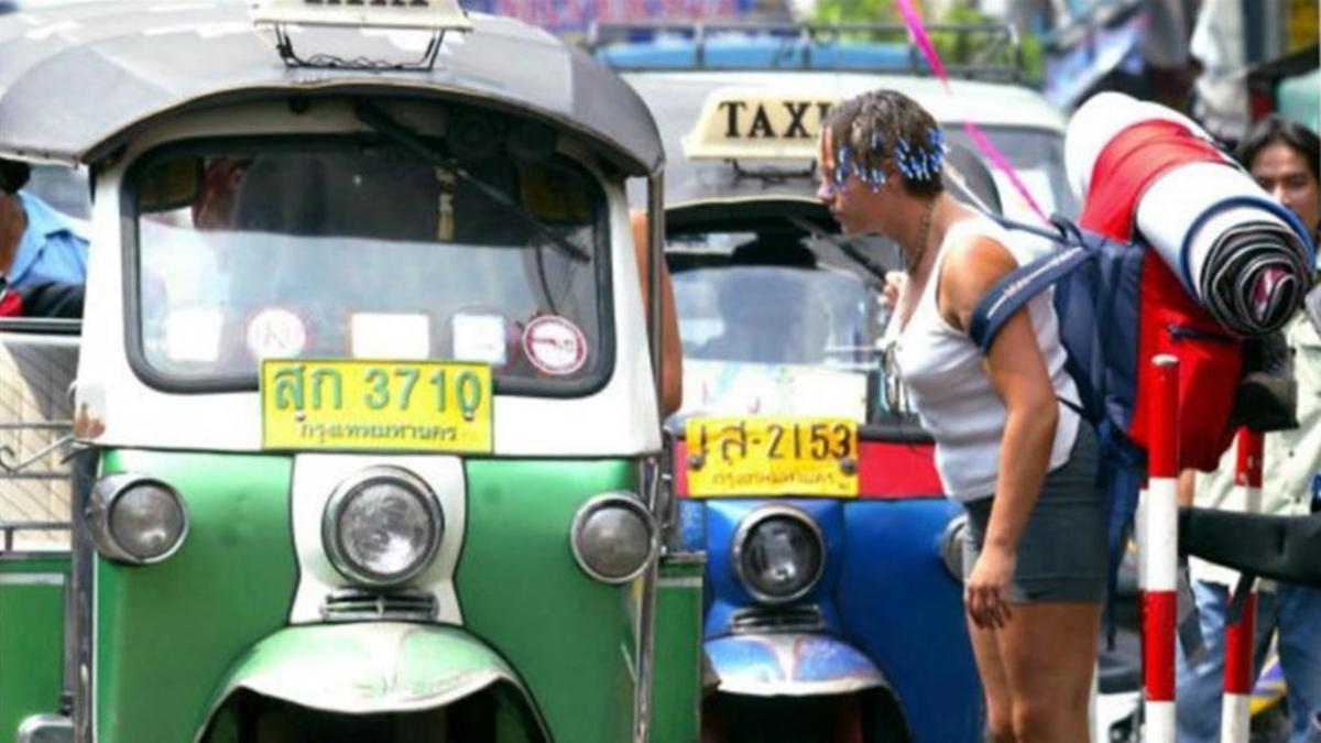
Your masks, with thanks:
M288 620L292 459L111 451L102 472L169 483L192 526L159 565L96 558L98 740L192 740L226 670Z

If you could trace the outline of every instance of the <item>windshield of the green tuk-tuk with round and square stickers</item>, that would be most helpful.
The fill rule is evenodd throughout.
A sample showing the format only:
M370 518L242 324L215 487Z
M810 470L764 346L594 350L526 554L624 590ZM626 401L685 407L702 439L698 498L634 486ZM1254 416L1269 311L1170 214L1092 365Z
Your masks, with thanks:
M149 157L129 177L137 362L164 383L375 358L490 364L507 391L590 385L609 352L602 189L561 156L461 167L357 140Z

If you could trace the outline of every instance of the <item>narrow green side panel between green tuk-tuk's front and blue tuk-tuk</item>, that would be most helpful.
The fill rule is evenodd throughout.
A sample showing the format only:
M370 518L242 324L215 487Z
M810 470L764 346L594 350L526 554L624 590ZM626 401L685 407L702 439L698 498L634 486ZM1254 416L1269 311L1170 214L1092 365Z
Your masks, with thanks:
M701 580L705 554L660 561L657 582L651 740L697 743L701 738Z

